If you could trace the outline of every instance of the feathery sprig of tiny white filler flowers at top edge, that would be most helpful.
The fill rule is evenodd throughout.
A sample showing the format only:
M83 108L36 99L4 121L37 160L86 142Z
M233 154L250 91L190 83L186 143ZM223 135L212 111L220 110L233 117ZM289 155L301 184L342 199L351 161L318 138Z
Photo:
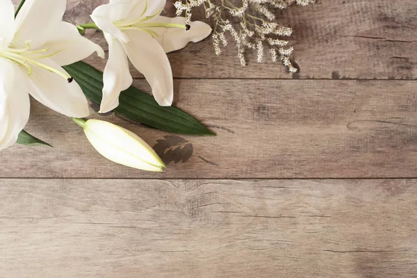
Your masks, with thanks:
M293 32L291 28L281 26L275 22L275 9L288 8L291 4L306 6L315 0L179 0L174 3L177 8L177 16L183 15L190 21L192 11L195 8L204 8L206 18L212 18L213 46L215 54L222 53L220 42L223 47L227 46L224 35L229 33L233 38L240 65L246 66L245 49L256 49L257 62L263 60L265 44L270 51L272 62L281 60L288 67L289 72L297 72L291 63L293 47L286 47L288 40L280 37L288 37ZM279 55L278 55L279 54Z

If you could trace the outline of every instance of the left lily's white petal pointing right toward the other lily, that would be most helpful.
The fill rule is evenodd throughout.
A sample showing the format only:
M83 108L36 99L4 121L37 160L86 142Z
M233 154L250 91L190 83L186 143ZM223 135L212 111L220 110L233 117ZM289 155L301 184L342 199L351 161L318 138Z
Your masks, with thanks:
M68 22L56 24L54 36L40 47L49 49L54 54L51 59L58 65L70 65L90 56L93 52L104 58L104 50L98 45L80 35L76 26Z

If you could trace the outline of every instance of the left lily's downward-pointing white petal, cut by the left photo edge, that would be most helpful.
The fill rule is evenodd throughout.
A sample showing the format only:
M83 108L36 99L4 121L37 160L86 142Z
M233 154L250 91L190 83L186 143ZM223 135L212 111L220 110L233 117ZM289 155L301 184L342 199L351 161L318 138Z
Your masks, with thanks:
M24 84L19 68L0 58L0 149L13 145L28 122L31 104Z

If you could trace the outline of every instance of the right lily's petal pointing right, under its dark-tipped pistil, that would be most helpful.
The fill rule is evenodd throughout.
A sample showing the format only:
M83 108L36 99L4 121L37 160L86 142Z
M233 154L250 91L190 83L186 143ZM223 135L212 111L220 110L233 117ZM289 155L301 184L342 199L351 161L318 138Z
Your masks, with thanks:
M163 17L159 16L154 22L184 24L185 17ZM181 28L152 28L158 34L156 40L162 45L165 53L182 49L188 42L199 42L204 40L211 33L211 27L204 22L190 22L190 30Z

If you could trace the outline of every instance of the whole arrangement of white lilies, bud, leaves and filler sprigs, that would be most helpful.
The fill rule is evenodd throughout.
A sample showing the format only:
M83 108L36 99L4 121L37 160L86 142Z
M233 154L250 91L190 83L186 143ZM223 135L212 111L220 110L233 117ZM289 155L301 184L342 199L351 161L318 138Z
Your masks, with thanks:
M115 163L161 172L163 161L139 136L90 116L88 100L100 105L99 113L115 113L129 120L172 133L215 135L194 117L172 106L173 78L166 53L199 42L212 33L208 24L191 21L192 11L204 8L213 20L215 54L230 35L242 66L245 49L255 49L262 61L265 44L272 60L290 72L292 48L284 49L291 29L275 23L271 9L312 0L186 0L170 3L177 17L162 15L165 0L111 0L92 12L92 22L74 26L63 22L66 0L0 0L0 149L15 142L49 145L24 131L31 95L70 117L81 126L95 149ZM185 14L185 17L181 15ZM236 27L237 26L237 27ZM92 54L105 58L104 50L83 35L86 29L101 32L108 43L104 72L81 60ZM132 86L129 61L145 76L152 95ZM49 145L50 146L50 145Z

